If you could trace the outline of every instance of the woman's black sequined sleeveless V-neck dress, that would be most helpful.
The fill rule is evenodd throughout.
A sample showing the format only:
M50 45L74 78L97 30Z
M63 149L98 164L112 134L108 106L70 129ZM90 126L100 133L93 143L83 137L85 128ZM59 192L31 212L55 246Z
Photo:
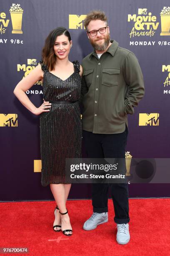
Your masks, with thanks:
M40 114L40 153L42 160L41 184L67 184L65 159L81 157L82 123L80 119L80 64L72 62L74 73L62 80L50 73L40 61L45 101L71 101L52 103L50 111ZM72 103L74 102L74 103Z

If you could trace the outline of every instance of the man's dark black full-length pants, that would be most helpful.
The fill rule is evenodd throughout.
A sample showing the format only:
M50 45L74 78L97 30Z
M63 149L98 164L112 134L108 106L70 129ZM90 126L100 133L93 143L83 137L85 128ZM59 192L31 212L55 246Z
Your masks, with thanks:
M128 128L123 133L98 134L83 131L83 143L88 158L125 158ZM128 223L129 202L127 183L94 183L92 184L93 212L107 212L108 188L115 210L115 223Z

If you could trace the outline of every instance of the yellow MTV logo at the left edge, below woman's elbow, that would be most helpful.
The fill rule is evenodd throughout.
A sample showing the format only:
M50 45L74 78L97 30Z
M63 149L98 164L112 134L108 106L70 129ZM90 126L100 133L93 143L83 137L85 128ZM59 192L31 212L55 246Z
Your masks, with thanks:
M0 114L0 126L18 127L18 115Z

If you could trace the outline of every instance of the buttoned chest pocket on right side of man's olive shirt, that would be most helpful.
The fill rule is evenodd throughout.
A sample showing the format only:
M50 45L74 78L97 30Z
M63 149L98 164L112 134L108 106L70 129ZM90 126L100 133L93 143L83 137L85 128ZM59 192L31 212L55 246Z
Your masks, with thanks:
M103 69L102 71L102 84L107 86L118 85L120 69Z

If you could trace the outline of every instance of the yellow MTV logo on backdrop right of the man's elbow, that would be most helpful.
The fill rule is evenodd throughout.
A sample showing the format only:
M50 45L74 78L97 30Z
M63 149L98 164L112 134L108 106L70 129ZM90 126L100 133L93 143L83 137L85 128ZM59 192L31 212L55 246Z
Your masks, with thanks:
M139 114L139 126L158 126L159 114L158 113L140 113Z

